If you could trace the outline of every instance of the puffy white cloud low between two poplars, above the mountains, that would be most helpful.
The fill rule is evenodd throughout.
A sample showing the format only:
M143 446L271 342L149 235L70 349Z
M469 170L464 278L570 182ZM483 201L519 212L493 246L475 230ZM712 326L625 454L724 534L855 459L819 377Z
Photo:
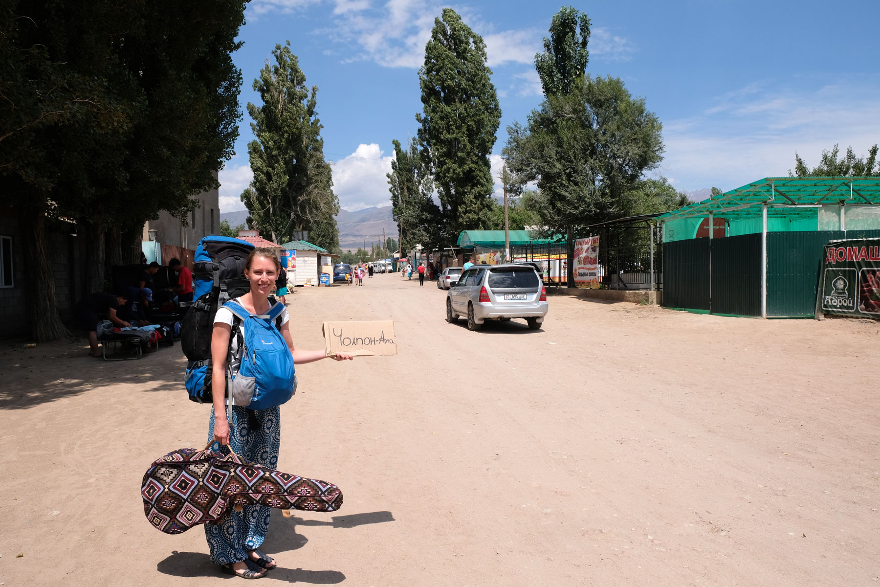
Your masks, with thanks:
M333 190L339 196L342 209L353 212L391 203L385 173L391 172L393 155L383 157L383 154L378 144L362 143L348 157L331 163Z

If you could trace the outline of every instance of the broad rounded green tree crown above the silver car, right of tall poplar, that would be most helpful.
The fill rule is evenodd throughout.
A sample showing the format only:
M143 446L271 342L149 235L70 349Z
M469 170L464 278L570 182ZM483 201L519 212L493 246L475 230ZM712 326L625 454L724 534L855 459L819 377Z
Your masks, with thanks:
M662 125L616 77L583 77L508 127L504 155L520 181L537 180L531 209L546 236L627 215L625 195L662 159Z

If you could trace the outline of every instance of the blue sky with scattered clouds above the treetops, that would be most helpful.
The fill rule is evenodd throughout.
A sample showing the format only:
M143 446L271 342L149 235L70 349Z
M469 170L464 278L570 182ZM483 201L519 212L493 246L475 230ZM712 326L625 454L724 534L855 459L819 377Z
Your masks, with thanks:
M220 172L220 209L244 209L251 178L244 110L275 43L290 40L307 84L318 85L324 150L342 208L384 206L392 139L415 134L417 70L434 18L451 6L487 42L505 128L539 106L534 55L562 4L474 0L252 0L233 58L245 112L236 155ZM731 189L785 175L840 143L880 141L877 0L572 3L592 20L591 75L620 77L664 123L664 161L651 176L680 190Z

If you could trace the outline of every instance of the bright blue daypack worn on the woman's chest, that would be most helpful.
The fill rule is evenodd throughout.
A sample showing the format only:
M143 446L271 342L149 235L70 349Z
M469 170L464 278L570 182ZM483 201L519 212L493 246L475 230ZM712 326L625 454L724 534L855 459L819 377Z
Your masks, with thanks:
M247 312L234 301L226 302L224 307L240 320L233 324L236 332L231 333L238 336L238 360L233 359L230 365L235 405L261 410L290 400L296 392L297 379L293 356L279 332L278 317L284 306L272 304L268 313L262 315Z

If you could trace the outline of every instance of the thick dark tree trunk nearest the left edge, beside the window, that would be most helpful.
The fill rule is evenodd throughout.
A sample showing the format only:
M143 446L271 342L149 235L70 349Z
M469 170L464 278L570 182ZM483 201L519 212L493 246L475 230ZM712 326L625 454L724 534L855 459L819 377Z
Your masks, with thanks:
M49 262L46 235L46 197L33 194L18 202L18 223L22 231L27 275L27 313L34 342L55 341L70 337L58 313L55 276Z

